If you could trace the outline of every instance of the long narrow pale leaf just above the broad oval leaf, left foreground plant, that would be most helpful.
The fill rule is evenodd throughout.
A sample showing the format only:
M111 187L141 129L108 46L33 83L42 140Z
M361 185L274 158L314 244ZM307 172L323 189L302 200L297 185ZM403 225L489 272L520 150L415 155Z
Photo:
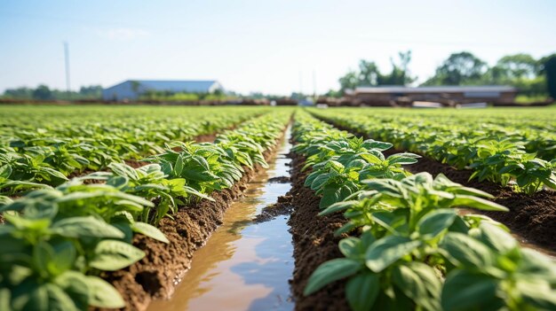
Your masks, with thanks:
M52 233L62 237L112 237L123 238L119 229L93 216L71 217L52 225Z

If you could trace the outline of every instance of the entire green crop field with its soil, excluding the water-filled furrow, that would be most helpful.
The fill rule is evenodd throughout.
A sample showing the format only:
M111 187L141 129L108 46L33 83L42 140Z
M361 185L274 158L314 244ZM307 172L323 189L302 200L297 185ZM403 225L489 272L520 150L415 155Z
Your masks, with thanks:
M290 222L298 308L556 309L552 108L4 105L0 310L160 298L183 271L148 245L203 245L220 222L195 209L238 198L284 139L284 200L321 226Z

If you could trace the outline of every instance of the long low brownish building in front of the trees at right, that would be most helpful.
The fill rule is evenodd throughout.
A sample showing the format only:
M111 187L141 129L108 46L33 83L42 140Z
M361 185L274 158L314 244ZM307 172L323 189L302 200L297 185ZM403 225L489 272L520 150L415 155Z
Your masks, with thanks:
M437 102L442 105L487 102L512 103L517 89L509 86L433 86L433 87L359 87L348 93L361 105L410 105L415 101Z

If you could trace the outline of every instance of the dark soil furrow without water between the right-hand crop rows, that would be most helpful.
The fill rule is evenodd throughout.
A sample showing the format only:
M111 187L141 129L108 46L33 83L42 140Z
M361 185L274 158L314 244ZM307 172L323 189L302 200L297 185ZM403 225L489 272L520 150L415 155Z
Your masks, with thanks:
M327 121L327 120L323 120ZM337 126L333 122L330 124ZM363 133L357 133L349 128L339 127L346 131L351 131L358 136L369 136ZM390 155L396 152L407 152L401 150L392 150L385 152ZM498 222L504 223L513 233L525 239L529 243L534 243L556 251L556 192L552 190L542 190L533 195L514 192L511 187L503 187L496 183L488 181L479 182L476 179L469 181L469 177L473 171L468 169L458 170L443 164L435 159L423 157L416 164L405 167L411 173L429 172L433 176L440 173L446 175L451 181L461 183L467 187L480 189L493 195L494 202L506 206L509 212L483 212Z

